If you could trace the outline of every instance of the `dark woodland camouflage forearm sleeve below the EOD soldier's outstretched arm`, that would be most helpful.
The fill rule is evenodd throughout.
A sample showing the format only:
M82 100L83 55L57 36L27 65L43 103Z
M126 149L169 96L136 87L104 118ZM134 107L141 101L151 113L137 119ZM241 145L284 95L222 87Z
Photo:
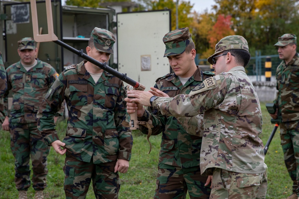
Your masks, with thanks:
M159 89L157 84L154 86L156 89ZM165 115L162 115L158 109L153 109L152 107L147 107L149 110L145 110L144 115L141 118L138 118L140 121L152 121L152 135L158 135L165 130L165 125L167 118ZM143 134L148 134L148 129L144 126L139 126L140 131Z

